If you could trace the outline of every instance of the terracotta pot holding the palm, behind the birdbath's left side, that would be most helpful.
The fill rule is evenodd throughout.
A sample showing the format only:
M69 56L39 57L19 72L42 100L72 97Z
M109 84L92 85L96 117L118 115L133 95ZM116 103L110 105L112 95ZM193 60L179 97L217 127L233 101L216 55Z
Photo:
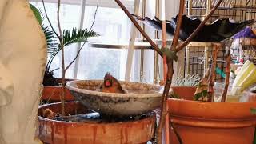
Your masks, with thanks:
M73 79L66 79L66 81L72 81ZM58 82L61 82L61 79L57 79ZM74 97L70 94L70 90L65 90L66 101L74 101ZM41 99L46 102L60 102L62 95L62 86L43 86L42 97Z

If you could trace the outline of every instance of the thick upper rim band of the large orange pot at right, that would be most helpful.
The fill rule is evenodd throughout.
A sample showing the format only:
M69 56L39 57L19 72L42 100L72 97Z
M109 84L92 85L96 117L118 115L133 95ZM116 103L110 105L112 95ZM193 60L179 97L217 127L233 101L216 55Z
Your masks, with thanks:
M256 115L250 113L256 102L197 102L175 98L169 98L167 102L171 115L226 120L242 118L256 122Z

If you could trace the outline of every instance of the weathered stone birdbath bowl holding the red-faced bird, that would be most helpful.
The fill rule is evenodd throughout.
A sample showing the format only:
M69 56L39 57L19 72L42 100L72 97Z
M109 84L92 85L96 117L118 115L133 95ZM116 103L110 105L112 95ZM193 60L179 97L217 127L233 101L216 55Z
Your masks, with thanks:
M100 114L117 117L146 114L161 104L163 86L138 82L122 82L126 94L99 91L103 81L78 80L67 82L66 87L78 102Z

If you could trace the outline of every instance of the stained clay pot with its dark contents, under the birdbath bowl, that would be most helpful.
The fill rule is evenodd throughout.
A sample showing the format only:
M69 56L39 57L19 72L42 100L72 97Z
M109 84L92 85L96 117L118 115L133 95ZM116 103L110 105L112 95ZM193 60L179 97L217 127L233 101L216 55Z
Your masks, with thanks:
M60 103L41 106L42 111L61 111ZM70 116L43 118L39 116L38 137L52 144L146 143L154 137L155 114L130 118L114 118L87 110L77 102L66 102ZM76 115L74 115L76 114Z

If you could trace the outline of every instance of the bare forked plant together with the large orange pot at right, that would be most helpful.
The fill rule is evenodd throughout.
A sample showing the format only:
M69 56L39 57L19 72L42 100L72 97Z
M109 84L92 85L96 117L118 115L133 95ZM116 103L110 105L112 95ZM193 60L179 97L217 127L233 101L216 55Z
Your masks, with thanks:
M206 83L209 82L209 87L206 86L206 90L202 90L202 97L208 100L209 102L194 102L192 101L194 93L196 92L195 87L172 87L174 92L179 94L182 98L185 99L175 99L167 98L169 94L170 84L172 82L172 75L174 73L173 62L177 58L175 54L182 50L191 39L195 38L202 27L205 25L210 15L214 13L214 10L220 5L222 0L219 0L217 4L210 10L210 13L207 14L206 18L197 26L193 33L186 38L185 42L182 42L178 46L178 36L179 30L182 26L182 14L184 9L185 1L180 1L180 9L178 18L176 21L176 30L174 33L174 40L170 50L159 49L158 46L154 45L154 42L145 34L145 32L140 28L133 16L126 10L126 7L122 5L122 2L118 2L118 5L122 7L122 10L126 12L128 17L134 23L134 26L142 33L148 42L154 47L154 50L158 54L166 57L166 64L168 66L168 71L166 73L166 85L165 91L162 96L162 110L160 123L158 125L158 143L162 143L162 128L165 123L170 124L166 125L167 133L171 133L171 136L166 135L166 139L172 142L185 142L185 143L251 143L253 142L254 137L254 126L256 122L256 117L250 114L250 108L256 106L255 102L243 102L243 103L229 103L225 102L227 87L229 84L229 74L230 74L230 53L226 54L226 82L225 89L222 94L222 102L212 102L213 92L214 92L214 71L216 66L216 57L219 44L212 43L212 46L215 47L211 66L211 74L209 75L209 81L206 79ZM165 26L165 21L162 21L162 26ZM156 26L156 25L154 25ZM161 24L158 24L161 26ZM184 25L183 25L184 26ZM163 28L163 33L165 30ZM164 38L164 37L163 37ZM164 45L164 44L163 44ZM164 45L165 46L165 45ZM229 52L230 50L227 50ZM198 91L197 91L198 92ZM196 93L198 94L198 93ZM188 100L186 100L188 99ZM166 106L167 105L167 106ZM168 111L167 111L168 110ZM169 115L170 117L169 117ZM218 119L220 118L220 119ZM170 119L167 120L166 119ZM191 120L191 121L190 121ZM222 121L220 121L222 120ZM243 120L243 121L242 121ZM218 123L220 122L220 123ZM225 125L224 123L227 122ZM223 124L223 125L222 125ZM195 131L192 132L191 129ZM170 131L169 131L170 130ZM198 130L198 131L197 131ZM205 131L204 131L205 130ZM234 131L229 131L234 130ZM242 134L240 136L235 134ZM176 141L174 141L174 138ZM243 137L244 136L244 137ZM206 141L206 138L209 138L209 141ZM233 138L233 139L232 139ZM245 139L246 138L246 139ZM244 141L242 141L244 140ZM169 141L168 141L169 142ZM168 143L167 142L167 143Z

